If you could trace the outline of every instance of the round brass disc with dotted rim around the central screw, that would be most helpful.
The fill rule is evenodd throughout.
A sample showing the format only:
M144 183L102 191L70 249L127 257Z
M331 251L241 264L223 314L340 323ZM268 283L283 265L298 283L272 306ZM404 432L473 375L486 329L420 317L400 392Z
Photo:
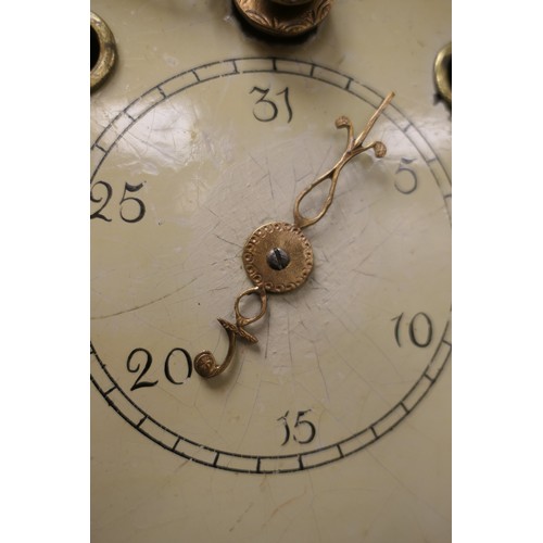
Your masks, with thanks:
M287 255L281 269L270 265L275 253ZM313 269L313 249L302 230L288 223L269 223L248 239L242 253L247 275L268 292L289 292L301 287ZM280 258L279 258L280 260Z

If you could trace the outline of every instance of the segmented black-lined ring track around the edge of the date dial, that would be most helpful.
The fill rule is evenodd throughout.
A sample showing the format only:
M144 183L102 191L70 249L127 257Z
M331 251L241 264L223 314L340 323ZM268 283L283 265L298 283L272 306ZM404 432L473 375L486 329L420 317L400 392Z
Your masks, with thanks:
M182 90L205 81L239 74L288 74L331 85L349 92L377 109L382 100L376 91L353 77L316 63L281 58L237 58L204 64L168 78L137 98L126 106L102 131L91 147L91 184L101 164L126 131L153 108ZM439 156L425 137L394 105L383 114L401 130L422 156L426 167L443 197L451 222L451 180ZM108 404L129 425L169 452L198 464L244 473L293 472L324 466L350 456L378 441L393 430L426 396L450 359L452 351L450 312L444 329L438 338L435 350L422 374L407 393L387 413L362 430L338 442L306 452L283 455L238 454L214 449L190 440L154 419L122 390L103 361L90 345L91 381Z

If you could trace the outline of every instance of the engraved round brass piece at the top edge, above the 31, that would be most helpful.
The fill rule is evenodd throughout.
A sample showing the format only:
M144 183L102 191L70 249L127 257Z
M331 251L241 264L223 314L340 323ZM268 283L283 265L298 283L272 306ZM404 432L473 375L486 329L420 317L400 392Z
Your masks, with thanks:
M294 37L319 25L333 0L235 0L243 17L255 28L279 37Z

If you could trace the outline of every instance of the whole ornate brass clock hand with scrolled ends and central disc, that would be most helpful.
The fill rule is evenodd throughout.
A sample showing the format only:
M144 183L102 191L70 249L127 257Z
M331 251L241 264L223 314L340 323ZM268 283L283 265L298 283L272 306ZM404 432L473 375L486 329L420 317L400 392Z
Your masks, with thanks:
M243 248L242 260L245 272L255 287L243 291L236 299L236 324L223 318L218 319L228 333L229 344L225 359L217 364L211 351L202 351L194 357L194 369L201 377L215 377L230 365L236 354L238 337L250 343L257 343L258 340L244 330L244 327L256 323L266 314L267 292L289 292L305 282L313 268L313 250L301 230L324 217L333 201L339 174L351 159L370 149L374 149L379 159L386 155L387 148L381 141L374 141L368 146L364 146L364 141L393 98L394 92L387 94L356 139L352 122L345 116L339 117L336 121L336 127L348 129L346 149L331 169L298 195L294 203L294 224L270 223L261 226L251 235ZM314 217L304 217L300 212L302 200L326 179L330 179L331 185L323 207ZM258 295L261 302L260 312L254 317L243 316L239 308L241 299L250 294Z

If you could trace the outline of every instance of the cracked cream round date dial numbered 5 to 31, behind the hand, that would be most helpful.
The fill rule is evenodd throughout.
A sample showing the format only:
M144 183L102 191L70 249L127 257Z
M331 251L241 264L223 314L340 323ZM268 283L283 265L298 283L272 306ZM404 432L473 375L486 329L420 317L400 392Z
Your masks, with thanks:
M143 434L212 467L306 469L371 444L430 389L451 350L451 189L394 106L378 128L388 159L345 166L336 206L312 229L307 286L276 296L232 376L192 374L199 349L224 350L213 320L248 286L252 226L288 217L336 162L344 136L329 119L367 118L379 102L315 63L230 59L162 81L100 135L92 376Z

